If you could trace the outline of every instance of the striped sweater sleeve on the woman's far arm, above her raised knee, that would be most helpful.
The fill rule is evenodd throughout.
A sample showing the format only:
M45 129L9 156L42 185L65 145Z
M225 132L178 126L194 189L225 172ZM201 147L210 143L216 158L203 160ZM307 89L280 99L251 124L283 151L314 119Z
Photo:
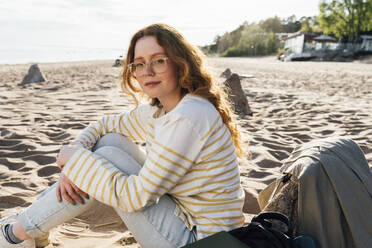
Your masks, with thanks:
M133 141L145 141L147 115L150 106L140 105L136 109L119 115L104 116L90 123L75 139L86 149L91 149L97 140L107 133L120 133Z

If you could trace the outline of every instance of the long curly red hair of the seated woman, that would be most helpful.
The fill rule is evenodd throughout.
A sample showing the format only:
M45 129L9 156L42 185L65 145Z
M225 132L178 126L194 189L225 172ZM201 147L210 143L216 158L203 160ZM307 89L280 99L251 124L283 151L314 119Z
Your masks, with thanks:
M214 105L220 113L223 122L230 130L237 155L243 158L246 155L246 151L243 149L238 130L239 125L228 100L225 86L218 84L212 79L211 75L204 68L203 53L190 44L175 28L157 23L144 27L133 35L121 75L122 90L130 94L136 104L138 104L136 94L141 94L142 90L138 87L138 83L136 83L127 65L134 60L136 42L144 36L156 37L158 44L164 48L167 56L175 63L181 94L192 93L207 99ZM150 104L161 107L157 98L152 98Z

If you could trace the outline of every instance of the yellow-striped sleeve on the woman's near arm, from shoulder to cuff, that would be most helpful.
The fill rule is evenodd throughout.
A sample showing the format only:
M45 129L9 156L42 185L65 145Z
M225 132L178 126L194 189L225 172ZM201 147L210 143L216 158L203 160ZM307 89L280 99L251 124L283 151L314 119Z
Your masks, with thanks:
M101 125L120 127L110 126L109 121L103 120ZM120 117L115 120L120 123ZM104 127L102 130L113 130ZM137 211L176 186L197 160L205 143L186 118L161 126L156 136L147 144L149 153L138 176L125 175L105 158L84 148L75 152L63 172L97 200L124 211Z

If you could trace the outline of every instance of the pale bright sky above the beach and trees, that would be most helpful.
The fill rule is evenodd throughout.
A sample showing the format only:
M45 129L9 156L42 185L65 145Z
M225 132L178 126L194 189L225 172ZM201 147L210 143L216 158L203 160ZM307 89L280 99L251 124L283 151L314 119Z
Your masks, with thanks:
M0 48L33 46L126 49L155 22L177 28L195 45L244 21L318 14L319 0L0 0ZM0 54L1 56L1 54Z

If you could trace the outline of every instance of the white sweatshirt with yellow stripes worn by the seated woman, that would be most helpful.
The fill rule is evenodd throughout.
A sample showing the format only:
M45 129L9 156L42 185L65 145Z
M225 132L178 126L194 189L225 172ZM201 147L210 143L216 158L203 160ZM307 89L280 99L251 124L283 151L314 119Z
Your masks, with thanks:
M169 194L174 214L201 239L244 223L244 191L229 129L207 100L187 94L167 114L139 105L130 112L92 122L76 142L79 148L63 173L95 199L124 211L138 211ZM146 160L138 175L126 175L91 152L107 133L146 143ZM125 163L125 161L123 161Z

